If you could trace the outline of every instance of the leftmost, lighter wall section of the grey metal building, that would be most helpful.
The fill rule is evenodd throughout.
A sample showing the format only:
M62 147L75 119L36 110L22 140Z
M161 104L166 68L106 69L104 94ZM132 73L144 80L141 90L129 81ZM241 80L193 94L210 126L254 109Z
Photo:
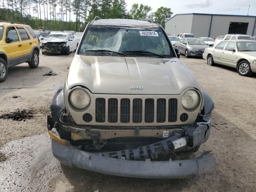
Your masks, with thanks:
M166 22L165 31L176 36L178 33L190 33L193 15L176 15Z

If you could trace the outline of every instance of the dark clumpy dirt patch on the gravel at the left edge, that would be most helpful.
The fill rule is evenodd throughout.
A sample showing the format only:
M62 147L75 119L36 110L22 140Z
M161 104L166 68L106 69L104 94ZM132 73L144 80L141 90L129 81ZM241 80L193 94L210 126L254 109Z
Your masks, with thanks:
M25 119L31 119L33 118L34 112L32 110L26 110L26 109L17 109L14 112L5 113L0 115L0 119L12 119L15 121L25 121Z

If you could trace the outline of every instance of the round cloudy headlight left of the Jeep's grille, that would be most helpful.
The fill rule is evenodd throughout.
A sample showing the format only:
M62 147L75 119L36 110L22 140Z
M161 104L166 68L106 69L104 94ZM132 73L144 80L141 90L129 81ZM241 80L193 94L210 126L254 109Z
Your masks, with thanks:
M74 89L69 95L69 102L76 109L84 109L90 103L90 95L83 89Z

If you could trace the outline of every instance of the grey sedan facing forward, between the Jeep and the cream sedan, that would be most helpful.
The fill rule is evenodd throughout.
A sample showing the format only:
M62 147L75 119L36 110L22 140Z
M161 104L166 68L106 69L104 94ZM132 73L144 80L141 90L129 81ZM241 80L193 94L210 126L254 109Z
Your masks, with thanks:
M198 38L182 38L175 44L181 54L185 57L199 56L202 57L204 49L208 46Z

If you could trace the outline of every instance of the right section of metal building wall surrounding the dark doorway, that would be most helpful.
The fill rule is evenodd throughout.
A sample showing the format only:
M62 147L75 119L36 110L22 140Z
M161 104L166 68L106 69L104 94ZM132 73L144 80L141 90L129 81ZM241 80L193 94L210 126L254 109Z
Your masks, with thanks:
M228 34L230 22L245 22L248 24L247 34L252 35L255 17L239 16L213 16L210 37L216 38L218 35Z

